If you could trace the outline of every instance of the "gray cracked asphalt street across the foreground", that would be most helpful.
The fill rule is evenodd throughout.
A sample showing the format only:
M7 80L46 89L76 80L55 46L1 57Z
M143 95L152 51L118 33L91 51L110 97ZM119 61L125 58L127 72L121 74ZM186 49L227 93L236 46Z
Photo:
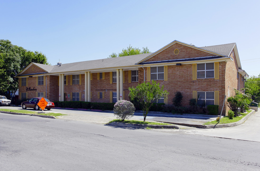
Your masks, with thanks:
M0 113L0 170L259 170L259 142Z

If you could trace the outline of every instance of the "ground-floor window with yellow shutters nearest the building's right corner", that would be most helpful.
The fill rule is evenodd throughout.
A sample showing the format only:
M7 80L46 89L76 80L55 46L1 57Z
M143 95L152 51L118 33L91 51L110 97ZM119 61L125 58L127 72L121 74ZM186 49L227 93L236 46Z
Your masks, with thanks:
M197 92L197 103L200 106L207 106L214 104L214 91L212 92L205 92L205 91L198 91Z

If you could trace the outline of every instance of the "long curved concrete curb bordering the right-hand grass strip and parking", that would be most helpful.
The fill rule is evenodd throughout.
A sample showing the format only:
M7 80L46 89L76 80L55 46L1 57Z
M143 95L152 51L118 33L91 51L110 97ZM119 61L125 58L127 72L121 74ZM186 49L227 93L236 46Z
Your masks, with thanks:
M165 122L165 121L157 121L157 122L164 122L164 123L171 123L176 125L182 125L187 127L196 127L196 128L223 128L223 127L233 127L242 124L246 119L248 119L253 113L255 113L255 110L252 110L249 114L247 114L245 117L243 117L240 121L233 122L233 123L224 123L224 124L216 124L216 125L196 125L196 124L188 124L188 123L176 123L176 122Z

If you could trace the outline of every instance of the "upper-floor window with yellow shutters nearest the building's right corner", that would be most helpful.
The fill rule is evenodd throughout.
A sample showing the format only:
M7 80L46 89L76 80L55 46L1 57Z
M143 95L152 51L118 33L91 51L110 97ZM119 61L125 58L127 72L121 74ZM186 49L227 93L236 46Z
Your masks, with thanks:
M214 78L214 63L198 63L197 78Z

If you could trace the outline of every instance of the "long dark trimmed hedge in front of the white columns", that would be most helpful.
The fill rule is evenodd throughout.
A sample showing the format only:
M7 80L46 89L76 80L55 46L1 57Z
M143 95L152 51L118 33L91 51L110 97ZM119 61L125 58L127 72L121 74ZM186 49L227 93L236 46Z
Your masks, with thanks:
M74 108L74 109L99 109L99 110L113 110L115 103L92 103L83 101L55 101L54 105L60 108Z

